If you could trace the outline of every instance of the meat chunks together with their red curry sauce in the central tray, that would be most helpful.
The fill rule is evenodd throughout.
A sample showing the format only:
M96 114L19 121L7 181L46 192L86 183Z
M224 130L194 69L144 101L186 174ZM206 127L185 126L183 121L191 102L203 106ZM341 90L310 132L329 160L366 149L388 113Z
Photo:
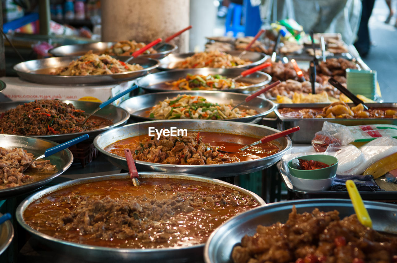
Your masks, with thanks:
M188 132L187 136L163 136L160 139L140 135L112 143L105 151L125 157L124 149L129 148L134 160L162 164L224 164L255 160L280 151L273 143L252 146L238 151L242 145L258 141L244 135L216 132ZM239 143L239 144L236 144ZM225 153L224 151L236 152Z

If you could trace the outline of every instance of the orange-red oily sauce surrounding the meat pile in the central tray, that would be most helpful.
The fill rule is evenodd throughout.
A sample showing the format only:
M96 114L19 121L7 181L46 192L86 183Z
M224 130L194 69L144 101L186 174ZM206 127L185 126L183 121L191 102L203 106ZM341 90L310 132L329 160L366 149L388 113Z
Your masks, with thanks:
M244 135L200 131L200 137L202 138L203 143L209 143L211 146L219 147L220 150L235 152L227 154L231 157L238 158L240 162L263 158L280 151L280 148L276 144L274 144L276 142L264 144L261 143L249 147L245 151L239 151L238 149L240 149L241 147L244 147L245 145L254 143L255 141L259 140L258 138ZM136 147L139 141L146 141L149 139L150 137L148 135L129 137L127 139L123 139L112 143L111 145L108 145L104 148L104 150L124 157L125 148L130 148L131 152L133 152L134 147Z

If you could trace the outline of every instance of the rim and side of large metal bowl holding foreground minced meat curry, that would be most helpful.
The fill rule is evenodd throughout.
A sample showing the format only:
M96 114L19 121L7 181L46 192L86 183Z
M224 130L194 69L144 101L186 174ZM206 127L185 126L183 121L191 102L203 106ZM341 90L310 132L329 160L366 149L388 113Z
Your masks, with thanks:
M223 185L225 187L235 189L236 191L248 194L260 204L264 204L264 201L253 192L247 191L241 187L231 185L224 181L217 179L210 179L208 177L202 177L193 174L173 174L173 173L152 173L152 172L140 172L139 177L150 177L150 178L175 178L175 179L187 179L193 181L201 181L212 183L216 185ZM202 262L202 251L204 244L178 247L178 248L161 248L161 249L121 249L121 248L107 248L100 246L89 246L84 244L77 244L73 242L67 242L48 236L46 234L40 233L35 229L32 229L27 225L23 219L23 212L35 200L38 198L49 194L51 192L64 189L66 187L90 183L95 181L107 181L110 179L121 179L129 178L127 173L117 174L117 175L105 175L91 178L82 178L73 181L67 181L53 187L46 188L40 192L37 192L25 200L18 206L16 210L16 217L19 224L26 229L33 237L37 238L40 242L46 244L50 248L62 251L67 254L83 256L84 258L90 259L90 261L97 262L109 262L109 261L128 261L128 262Z

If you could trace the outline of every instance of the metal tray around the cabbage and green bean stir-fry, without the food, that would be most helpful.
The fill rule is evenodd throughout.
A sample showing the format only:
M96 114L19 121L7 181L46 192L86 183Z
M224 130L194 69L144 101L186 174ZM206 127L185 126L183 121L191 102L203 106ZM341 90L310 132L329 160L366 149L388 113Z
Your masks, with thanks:
M148 111L152 109L159 101L164 101L168 98L176 97L177 95L198 95L206 98L212 103L230 103L233 99L233 105L237 105L245 100L248 95L232 92L219 92L219 91L183 91L175 90L168 92L149 93L136 97L131 97L120 104L120 107L127 110L131 117L137 121L157 120L148 117ZM268 99L256 97L251 101L243 104L240 108L254 109L258 114L246 116L243 118L227 119L234 122L258 122L264 115L272 112L276 105Z

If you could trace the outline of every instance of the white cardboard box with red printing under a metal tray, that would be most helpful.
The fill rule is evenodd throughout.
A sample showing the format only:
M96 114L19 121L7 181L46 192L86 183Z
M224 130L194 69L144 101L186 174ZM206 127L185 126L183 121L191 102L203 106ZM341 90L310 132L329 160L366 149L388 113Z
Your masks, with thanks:
M6 83L2 94L12 101L28 101L35 99L69 99L80 101L103 102L114 97L120 92L130 88L134 81L123 82L106 86L55 86L27 82L18 77L2 77L0 80ZM113 104L118 105L127 99L124 95Z

